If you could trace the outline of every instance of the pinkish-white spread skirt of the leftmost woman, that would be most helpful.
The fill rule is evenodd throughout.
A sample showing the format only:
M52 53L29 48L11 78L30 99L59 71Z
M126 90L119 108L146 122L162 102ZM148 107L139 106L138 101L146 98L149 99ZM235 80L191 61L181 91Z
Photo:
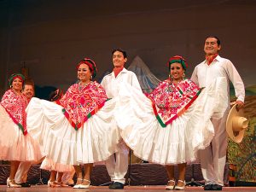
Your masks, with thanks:
M2 105L0 132L0 160L37 161L43 157L39 144L30 134L23 135Z

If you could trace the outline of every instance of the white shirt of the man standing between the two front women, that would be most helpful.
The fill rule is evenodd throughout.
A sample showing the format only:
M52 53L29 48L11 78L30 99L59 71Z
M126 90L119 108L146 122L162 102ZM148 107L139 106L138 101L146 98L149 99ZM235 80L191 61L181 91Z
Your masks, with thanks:
M122 82L131 84L132 87L142 91L136 74L123 68L123 70L118 74L116 78L112 72L102 79L101 84L102 87L106 90L108 98L113 98L118 95L119 85Z

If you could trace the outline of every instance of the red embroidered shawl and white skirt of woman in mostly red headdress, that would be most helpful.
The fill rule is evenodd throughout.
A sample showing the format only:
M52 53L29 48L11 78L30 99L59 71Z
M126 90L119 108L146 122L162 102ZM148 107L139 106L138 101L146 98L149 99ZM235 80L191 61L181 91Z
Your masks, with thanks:
M32 98L26 108L27 129L44 146L52 170L107 160L117 143L114 100L96 82L73 84L57 101ZM50 164L49 164L50 165Z

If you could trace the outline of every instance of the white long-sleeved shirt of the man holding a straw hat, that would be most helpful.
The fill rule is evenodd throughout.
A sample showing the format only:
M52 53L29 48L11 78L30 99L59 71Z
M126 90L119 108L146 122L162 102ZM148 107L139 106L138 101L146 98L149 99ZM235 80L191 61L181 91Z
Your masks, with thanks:
M225 77L227 79L227 91L230 95L230 82L234 85L237 101L244 102L245 88L239 73L233 63L219 55L207 65L207 61L202 61L195 67L191 80L200 87L206 87L213 79Z

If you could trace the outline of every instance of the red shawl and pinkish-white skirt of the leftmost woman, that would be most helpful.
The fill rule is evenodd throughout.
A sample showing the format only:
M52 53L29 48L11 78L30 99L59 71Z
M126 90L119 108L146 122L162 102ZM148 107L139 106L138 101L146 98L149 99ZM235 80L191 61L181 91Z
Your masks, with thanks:
M38 143L26 130L27 100L15 90L7 90L0 104L0 160L40 160Z

